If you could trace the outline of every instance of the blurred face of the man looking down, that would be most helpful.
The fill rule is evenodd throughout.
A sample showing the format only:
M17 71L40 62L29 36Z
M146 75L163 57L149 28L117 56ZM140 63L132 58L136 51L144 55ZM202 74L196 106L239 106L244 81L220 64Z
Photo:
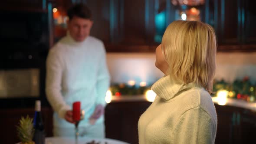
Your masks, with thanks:
M84 41L90 35L92 24L92 20L74 16L68 22L70 36L77 42Z

